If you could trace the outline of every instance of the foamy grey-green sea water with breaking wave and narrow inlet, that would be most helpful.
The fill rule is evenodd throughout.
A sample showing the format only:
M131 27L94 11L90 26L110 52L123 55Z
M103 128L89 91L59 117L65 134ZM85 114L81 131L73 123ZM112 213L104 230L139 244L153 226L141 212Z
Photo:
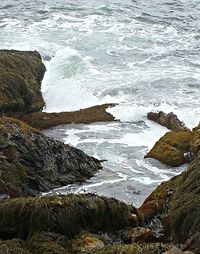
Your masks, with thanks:
M1 0L0 48L37 50L47 72L47 112L118 103L114 123L46 131L104 168L54 192L96 192L139 206L161 181L182 172L146 152L167 129L149 111L173 111L190 128L200 119L199 0Z

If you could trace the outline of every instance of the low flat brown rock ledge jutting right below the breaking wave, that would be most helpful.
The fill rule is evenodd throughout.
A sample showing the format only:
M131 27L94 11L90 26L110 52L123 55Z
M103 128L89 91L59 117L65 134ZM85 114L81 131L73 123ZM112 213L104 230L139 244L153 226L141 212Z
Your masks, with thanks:
M74 112L61 113L36 112L21 116L21 120L39 129L70 123L108 122L114 121L114 117L106 112L106 109L114 106L115 104L103 104Z

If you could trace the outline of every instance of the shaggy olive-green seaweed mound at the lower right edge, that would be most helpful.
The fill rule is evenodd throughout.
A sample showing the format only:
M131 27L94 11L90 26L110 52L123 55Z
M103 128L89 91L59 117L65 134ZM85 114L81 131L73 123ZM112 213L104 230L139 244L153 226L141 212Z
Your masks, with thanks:
M180 177L170 204L175 240L200 253L200 159Z

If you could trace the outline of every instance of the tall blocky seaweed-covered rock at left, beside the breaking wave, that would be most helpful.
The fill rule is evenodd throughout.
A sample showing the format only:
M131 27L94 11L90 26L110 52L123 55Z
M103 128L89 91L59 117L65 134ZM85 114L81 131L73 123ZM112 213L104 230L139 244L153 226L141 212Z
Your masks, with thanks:
M0 50L0 112L35 112L44 107L45 66L36 51Z

